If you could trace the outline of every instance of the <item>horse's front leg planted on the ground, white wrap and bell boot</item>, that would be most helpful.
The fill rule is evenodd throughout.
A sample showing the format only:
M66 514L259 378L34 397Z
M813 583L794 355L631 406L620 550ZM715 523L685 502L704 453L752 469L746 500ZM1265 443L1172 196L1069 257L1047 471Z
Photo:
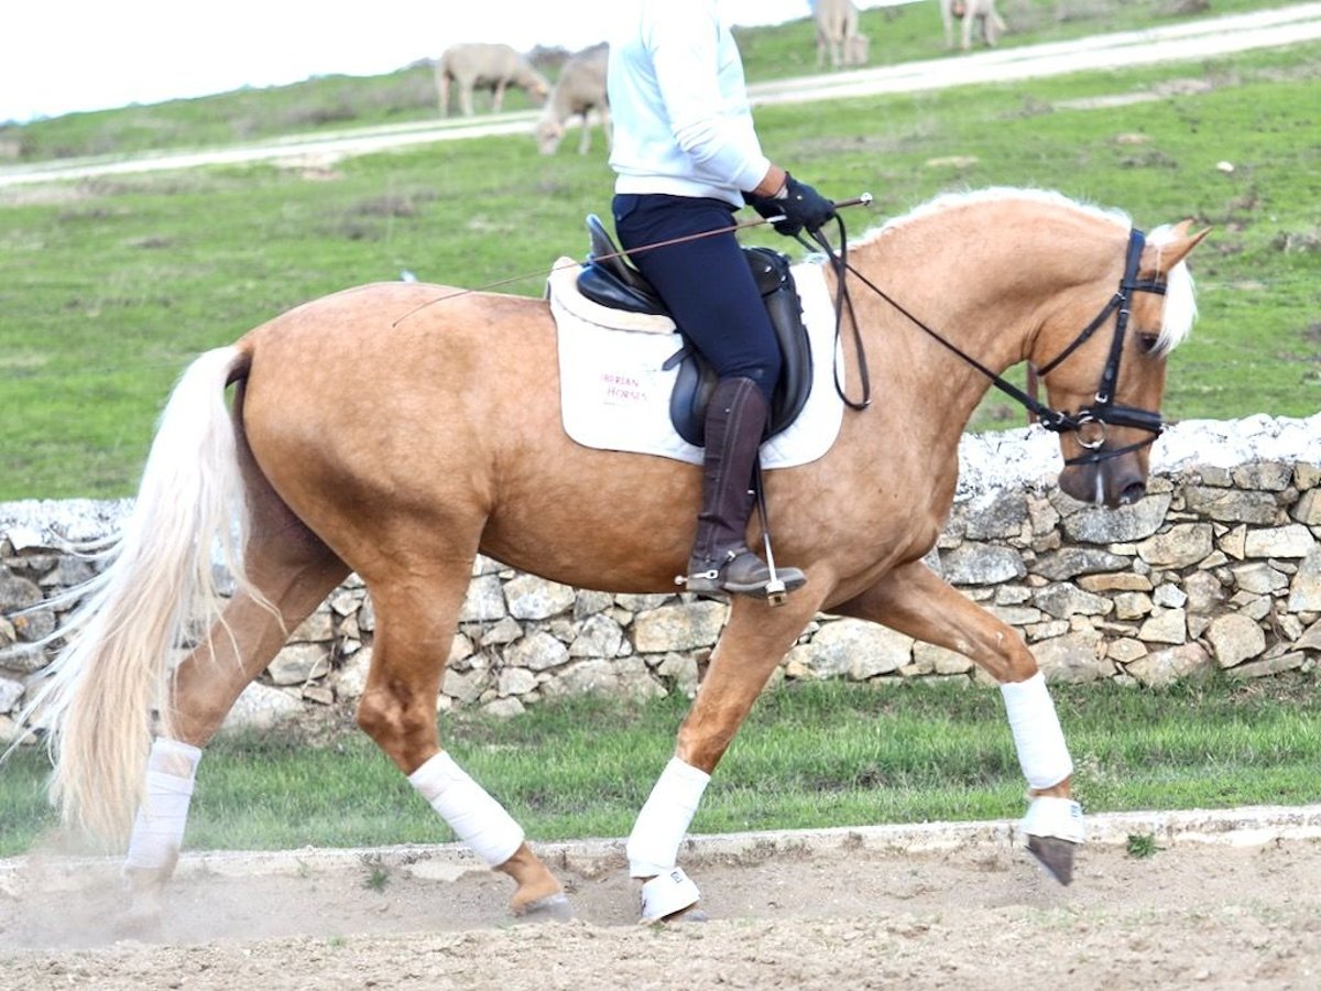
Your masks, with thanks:
M736 599L729 622L679 727L675 754L629 835L629 873L642 881L642 921L697 917L697 887L676 865L679 846L716 764L729 748L771 671L820 605L807 589L782 606Z

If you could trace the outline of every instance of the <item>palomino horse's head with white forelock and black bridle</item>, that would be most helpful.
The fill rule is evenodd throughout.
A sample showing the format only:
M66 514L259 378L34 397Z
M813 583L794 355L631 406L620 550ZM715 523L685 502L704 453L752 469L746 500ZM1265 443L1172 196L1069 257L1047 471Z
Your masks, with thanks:
M1042 328L1038 374L1059 432L1065 469L1059 488L1083 502L1122 506L1147 493L1151 444L1162 420L1165 359L1188 336L1197 304L1184 264L1207 230L1190 222L1132 231L1123 275L1108 301L1065 308ZM1114 287L1112 275L1106 276ZM1040 357L1040 355L1038 355Z

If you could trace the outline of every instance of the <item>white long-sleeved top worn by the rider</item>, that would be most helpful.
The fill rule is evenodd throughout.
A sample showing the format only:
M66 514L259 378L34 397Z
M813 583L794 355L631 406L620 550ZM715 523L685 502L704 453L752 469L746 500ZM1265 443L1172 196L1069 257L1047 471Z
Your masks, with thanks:
M618 3L606 74L614 190L742 206L741 190L761 182L770 161L717 0Z

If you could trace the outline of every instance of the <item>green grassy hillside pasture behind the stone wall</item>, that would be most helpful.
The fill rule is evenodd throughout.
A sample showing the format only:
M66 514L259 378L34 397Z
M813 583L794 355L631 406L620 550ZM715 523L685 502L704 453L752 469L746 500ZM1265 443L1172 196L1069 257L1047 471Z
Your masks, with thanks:
M1007 5L1017 30L1005 46L1169 20L1143 3L1094 18L1055 20L1057 9L1069 13ZM934 4L867 17L873 61L943 55ZM795 22L748 32L749 78L812 69L804 30ZM1321 44L1312 42L1202 63L765 107L758 129L775 160L819 189L876 196L869 214L848 214L852 231L939 192L988 185L1058 189L1119 206L1144 229L1184 218L1214 226L1193 258L1202 316L1172 358L1165 414L1309 416L1321 406L1318 63ZM425 70L404 75L416 73ZM382 95L400 87L394 77L317 79L70 118L99 120L98 140L116 151L140 147L137 129L156 135L151 147L223 144L316 129L306 118L325 116L328 103L353 107L330 122L337 127L431 112ZM1087 103L1152 94L1159 99ZM170 128L132 124L166 112L178 115L177 141L162 136ZM266 123L234 129L246 115ZM18 131L37 148L46 145L32 135L46 128L92 123L58 118ZM556 258L585 252L583 217L608 209L610 185L600 153L544 159L530 136L515 135L330 169L259 164L0 189L0 499L131 494L186 362L308 299L406 268L429 281L540 295ZM748 242L797 250L769 233ZM1015 374L1021 382L1021 369ZM995 394L971 429L1021 423L1022 411Z

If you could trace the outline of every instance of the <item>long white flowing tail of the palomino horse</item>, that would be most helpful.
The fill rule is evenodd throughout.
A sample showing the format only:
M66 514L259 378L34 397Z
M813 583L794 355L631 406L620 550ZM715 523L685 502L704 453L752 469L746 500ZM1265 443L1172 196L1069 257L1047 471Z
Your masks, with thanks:
M65 825L102 842L127 839L152 736L170 735L174 649L221 616L217 546L247 588L247 511L225 402L240 361L238 348L207 351L174 387L112 563L79 589L55 634L66 646L25 714L50 731L50 797Z

